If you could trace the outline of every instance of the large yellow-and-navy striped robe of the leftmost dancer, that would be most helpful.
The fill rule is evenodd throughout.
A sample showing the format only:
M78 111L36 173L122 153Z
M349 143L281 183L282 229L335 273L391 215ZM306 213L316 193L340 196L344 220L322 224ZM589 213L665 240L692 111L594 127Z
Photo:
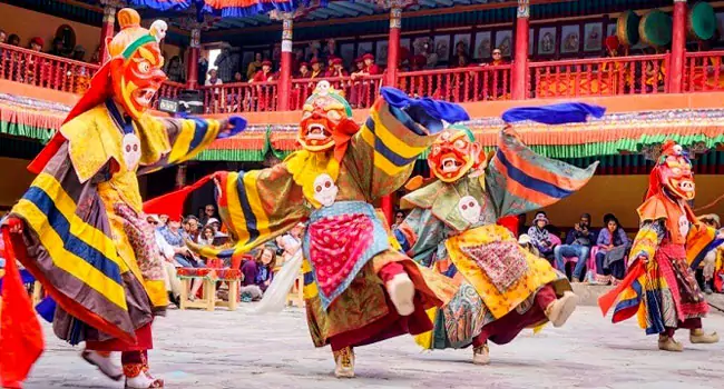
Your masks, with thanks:
M193 158L219 128L216 120L150 114L130 121L111 101L60 128L66 140L11 212L26 225L27 256L18 259L58 303L58 337L133 343L135 330L166 307L137 176ZM124 153L130 132L140 140L135 167Z

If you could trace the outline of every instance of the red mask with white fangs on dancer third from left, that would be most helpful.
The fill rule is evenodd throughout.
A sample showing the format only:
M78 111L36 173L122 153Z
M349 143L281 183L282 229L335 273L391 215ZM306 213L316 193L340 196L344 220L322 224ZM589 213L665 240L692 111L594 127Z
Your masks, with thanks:
M469 128L460 124L442 131L428 156L430 170L443 182L459 180L481 162L480 143L476 142Z

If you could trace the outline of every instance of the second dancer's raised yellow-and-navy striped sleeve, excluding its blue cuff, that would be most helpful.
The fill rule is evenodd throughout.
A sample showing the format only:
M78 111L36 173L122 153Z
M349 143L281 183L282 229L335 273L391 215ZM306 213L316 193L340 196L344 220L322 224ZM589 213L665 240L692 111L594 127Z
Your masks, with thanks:
M356 169L358 180L374 200L404 184L414 161L436 138L408 112L380 97L352 139L346 164Z

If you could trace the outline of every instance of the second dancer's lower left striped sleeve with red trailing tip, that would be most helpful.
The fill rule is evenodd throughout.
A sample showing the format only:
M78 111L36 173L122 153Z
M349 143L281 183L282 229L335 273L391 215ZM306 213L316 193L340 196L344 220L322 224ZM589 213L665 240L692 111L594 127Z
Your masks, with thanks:
M263 170L218 172L215 178L218 211L235 245L223 250L205 248L199 251L204 256L229 258L247 252L307 217L302 188L284 163Z

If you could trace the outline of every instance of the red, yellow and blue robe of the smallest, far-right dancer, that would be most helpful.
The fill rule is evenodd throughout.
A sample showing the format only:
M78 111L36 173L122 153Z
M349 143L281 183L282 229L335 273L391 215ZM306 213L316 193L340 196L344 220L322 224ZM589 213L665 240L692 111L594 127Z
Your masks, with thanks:
M615 303L613 322L636 316L647 335L656 335L706 315L693 269L720 245L717 232L679 201L661 192L638 208L642 223L630 250L635 261L624 281L598 302L604 315Z

